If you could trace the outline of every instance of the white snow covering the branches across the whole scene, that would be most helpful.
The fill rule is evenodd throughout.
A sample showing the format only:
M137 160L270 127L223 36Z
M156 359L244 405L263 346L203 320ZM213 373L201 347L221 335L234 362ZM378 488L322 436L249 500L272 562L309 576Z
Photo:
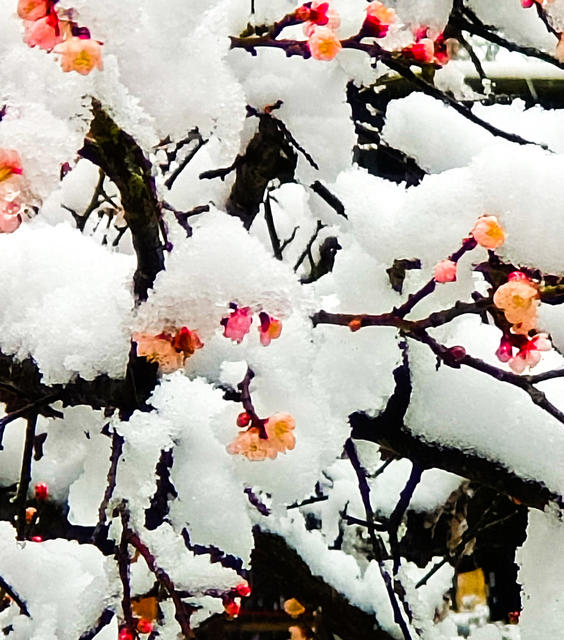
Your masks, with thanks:
M427 95L412 93L392 100L382 138L428 173L418 186L407 189L352 163L356 133L347 85L382 80L383 65L374 68L368 56L351 50L325 63L288 57L275 48L258 47L256 56L231 48L229 36L292 12L296 3L290 0L256 0L254 14L250 3L239 0L118 4L74 0L73 19L103 42L104 70L87 77L63 73L56 54L23 43L15 4L0 7L0 107L6 104L0 149L17 149L21 156L26 212L15 233L0 234L2 354L15 360L32 358L43 384L65 385L79 377L123 380L131 337L137 331L156 335L187 326L204 343L183 369L158 374L143 410L126 415L120 407L94 410L58 402L53 407L61 417L40 416L37 434L46 440L43 455L36 451L32 461L30 499L34 484L45 482L50 500L62 506L71 525L95 527L108 486L115 433L123 439L123 451L105 513L110 542L121 536L114 510L128 505L132 529L155 555L157 565L198 607L194 625L223 611L221 594L230 592L241 577L212 563L206 554L195 555L182 533L189 534L192 544L236 556L248 569L252 530L258 525L282 535L315 575L353 605L375 614L393 637L401 637L382 567L359 550L366 531L345 527L341 520L345 510L361 520L366 517L356 473L342 457L350 436L348 419L355 411L375 416L385 408L395 388L400 342L408 345L413 389L405 424L414 436L481 456L562 495L564 471L555 461L564 457L564 431L522 389L465 366L438 367L428 347L409 336L412 325L405 324L402 331L388 326L352 332L346 326L314 328L311 315L321 308L383 314L399 307L429 281L439 260L461 246L483 214L497 216L507 231L506 243L496 251L502 260L516 268L563 275L562 110L527 109L519 100L472 107L484 121L538 143L517 144ZM411 42L412 30L422 25L429 27L430 35L438 35L453 7L452 0L387 4L397 11L398 24L379 42L397 47ZM485 23L495 23L505 37L554 53L557 39L534 8L523 8L519 0L467 0L467 4ZM366 6L364 0L335 0L341 38L358 31ZM564 0L545 3L544 8L552 23L562 28ZM301 25L288 33L303 38ZM556 67L524 62L513 53L500 54L485 68L492 78L519 74L535 81L562 80ZM468 61L452 61L437 72L436 86L457 97L470 97L464 84L470 77L475 71ZM124 237L114 247L112 229L114 235L104 243L104 230L95 228L97 215L81 233L67 210L81 215L99 178L98 168L79 158L93 98L150 159L163 203L183 211L209 205L208 211L190 218L190 238L173 213L163 208L172 248L148 300L137 305L132 295L136 257L131 238ZM225 181L199 178L204 171L230 166L245 153L259 122L247 106L261 113L275 104L272 117L291 133L298 158L295 182L269 185L280 238L285 240L295 231L283 260L273 256L264 209L250 233L225 212L235 171ZM196 129L205 145L169 189L165 183L170 173L159 167L166 158L164 149ZM186 149L171 170L183 153ZM72 170L61 180L65 163ZM346 219L312 191L316 180L342 201ZM108 180L105 186L115 196L120 216L116 188ZM341 248L330 273L303 285L300 278L309 274L309 259L299 268L294 266L318 224L325 228L311 247L312 258L319 259L327 237L335 237ZM420 260L421 267L406 273L402 292L394 291L389 269L396 259L407 258ZM487 293L483 279L473 271L487 259L483 248L465 255L458 264L457 281L437 286L407 320L424 318L457 300L471 301L476 290ZM231 303L250 307L254 316L240 344L225 337L221 325ZM268 347L259 339L261 311L279 319L283 327ZM564 349L560 306L541 305L539 328L551 334L560 351ZM490 317L458 318L430 330L430 335L447 346L463 345L473 356L507 370L494 355L501 332ZM562 356L552 351L543 355L535 371L562 366ZM288 412L296 422L295 449L275 460L254 462L227 452L239 433L236 420L243 405L235 392L248 368L255 374L249 393L259 418ZM546 381L539 389L564 410L560 379ZM26 389L3 387L2 393L17 396L18 407L35 399ZM9 397L6 402L13 400ZM24 437L24 419L7 425L0 451L0 485L6 499L12 495L8 488L20 481ZM378 518L387 518L412 462L394 460L376 474L383 464L378 448L363 442L358 451L372 474L367 480L372 508ZM145 512L159 485L157 464L163 452L171 461L174 495L168 496L164 522L148 530ZM426 469L409 509L435 512L461 482L457 475ZM287 509L316 491L326 500ZM246 495L249 492L268 505L270 516L258 513ZM317 519L319 528L306 527L307 515ZM530 513L527 540L519 552L523 640L558 637L564 624L559 602L563 567L554 553L563 535L560 517L556 508ZM341 533L342 548L332 548ZM382 535L388 542L387 534ZM31 618L19 615L15 603L2 610L0 628L11 625L9 636L74 639L91 629L106 607L116 615L96 638L117 636L122 585L113 557L103 556L93 544L62 538L16 542L8 522L0 522L0 542L0 575L22 595L32 614ZM456 620L449 617L434 624L433 618L443 604L453 569L446 564L426 586L416 589L430 566L402 563L398 579L414 611L414 625L425 640L452 640L458 637ZM391 571L391 562L384 567ZM155 575L141 559L131 563L133 594L147 593L154 581ZM160 606L159 635L175 638L174 607L169 601ZM484 621L486 613L478 612ZM469 623L468 618L464 621ZM473 629L470 637L501 640L515 633L486 624Z

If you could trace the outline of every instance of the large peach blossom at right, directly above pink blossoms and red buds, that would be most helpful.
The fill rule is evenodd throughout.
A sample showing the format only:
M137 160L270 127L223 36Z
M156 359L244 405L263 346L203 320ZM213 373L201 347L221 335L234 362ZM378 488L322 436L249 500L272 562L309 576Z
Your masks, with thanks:
M513 325L514 333L526 335L536 328L539 292L521 271L510 274L508 282L498 287L493 302Z

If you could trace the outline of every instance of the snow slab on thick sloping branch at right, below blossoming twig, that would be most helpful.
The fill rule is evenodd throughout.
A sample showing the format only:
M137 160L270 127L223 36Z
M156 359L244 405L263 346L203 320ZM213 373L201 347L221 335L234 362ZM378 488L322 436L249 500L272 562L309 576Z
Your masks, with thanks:
M500 364L494 353L501 332L478 318L453 321L435 335L447 346L462 344L469 354ZM554 359L543 361L543 368L561 361L558 355L549 355ZM437 370L436 357L428 347L412 341L409 359L413 391L405 422L415 435L498 462L522 478L564 493L564 470L553 464L564 457L562 424L534 405L523 390L466 366L443 365ZM558 381L543 384L548 399L562 410L556 387Z

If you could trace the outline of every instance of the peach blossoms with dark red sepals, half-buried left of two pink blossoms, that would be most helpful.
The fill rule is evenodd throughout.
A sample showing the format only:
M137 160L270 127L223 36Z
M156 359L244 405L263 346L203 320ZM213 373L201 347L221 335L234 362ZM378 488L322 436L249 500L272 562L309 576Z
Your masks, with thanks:
M134 333L132 339L137 343L137 355L156 362L162 373L181 369L196 349L204 346L197 332L188 327L174 332L163 331L158 335Z

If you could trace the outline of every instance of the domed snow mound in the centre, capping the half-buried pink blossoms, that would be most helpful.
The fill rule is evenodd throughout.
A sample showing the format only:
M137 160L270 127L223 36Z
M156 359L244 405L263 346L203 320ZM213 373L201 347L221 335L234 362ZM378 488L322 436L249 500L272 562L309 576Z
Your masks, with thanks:
M284 318L304 300L288 265L249 236L240 220L213 210L169 254L138 322L157 333L165 324L188 325L205 341L228 315L230 302Z

